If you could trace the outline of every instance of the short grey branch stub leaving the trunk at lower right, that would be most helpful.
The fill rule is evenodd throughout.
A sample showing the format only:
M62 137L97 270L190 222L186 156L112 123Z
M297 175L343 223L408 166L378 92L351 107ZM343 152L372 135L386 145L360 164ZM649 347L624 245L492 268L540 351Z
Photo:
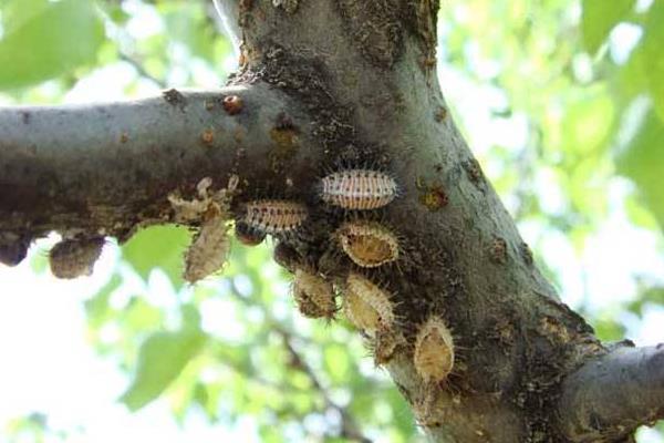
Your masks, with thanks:
M561 426L574 442L614 442L664 414L664 344L619 348L562 385Z

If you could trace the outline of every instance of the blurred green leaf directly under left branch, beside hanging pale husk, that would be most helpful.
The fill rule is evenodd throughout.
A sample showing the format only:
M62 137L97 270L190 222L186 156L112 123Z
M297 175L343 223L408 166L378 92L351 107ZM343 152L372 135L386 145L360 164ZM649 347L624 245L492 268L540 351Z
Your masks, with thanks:
M152 226L136 234L122 247L122 256L147 280L154 268L162 268L176 289L183 285L184 253L191 234L179 226Z

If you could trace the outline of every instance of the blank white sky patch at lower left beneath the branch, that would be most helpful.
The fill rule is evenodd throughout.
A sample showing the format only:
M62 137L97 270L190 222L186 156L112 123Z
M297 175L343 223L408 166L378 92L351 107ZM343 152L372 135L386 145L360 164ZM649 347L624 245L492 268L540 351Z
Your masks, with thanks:
M52 241L40 244L31 254L45 254L44 244ZM68 440L73 443L258 442L249 420L228 430L190 414L179 427L163 400L135 414L116 403L128 380L86 342L82 302L105 282L117 253L115 245L107 246L92 277L70 281L49 272L34 276L30 259L17 268L0 267L0 430L11 419L42 412L53 430L84 426ZM158 280L151 278L148 292L164 288Z

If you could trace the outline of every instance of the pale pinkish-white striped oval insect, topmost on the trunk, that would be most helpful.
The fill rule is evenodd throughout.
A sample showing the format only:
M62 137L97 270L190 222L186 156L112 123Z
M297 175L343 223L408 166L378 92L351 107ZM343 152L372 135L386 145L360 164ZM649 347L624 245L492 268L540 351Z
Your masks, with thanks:
M321 179L323 202L344 209L377 209L398 194L396 182L388 174L372 169L345 169Z

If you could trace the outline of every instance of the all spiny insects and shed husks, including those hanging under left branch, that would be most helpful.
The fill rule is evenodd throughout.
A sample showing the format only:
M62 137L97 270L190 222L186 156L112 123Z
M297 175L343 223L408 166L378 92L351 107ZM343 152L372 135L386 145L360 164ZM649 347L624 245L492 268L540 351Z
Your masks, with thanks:
M212 181L206 177L197 186L197 195L185 199L178 193L168 196L178 223L199 225L185 255L184 278L196 282L217 271L228 257L228 222L230 203L239 178L231 176L228 185L212 192ZM359 214L380 209L398 194L395 179L386 173L366 168L331 173L320 181L319 197L326 204L345 210L344 219L331 233L333 245L354 268L333 285L314 267L297 264L289 267L294 275L293 298L300 312L310 318L331 320L339 311L338 292L342 293L343 312L347 320L371 340L376 364L387 363L398 347L407 346L397 326L395 297L387 288L372 281L365 269L394 264L400 259L400 238L390 227L360 217ZM282 240L293 236L309 219L307 205L289 199L255 199L241 205L236 218L236 236L245 245L258 245L267 235ZM50 254L53 275L74 278L87 275L98 258L103 237L90 240L63 240ZM438 316L428 318L418 329L413 363L426 383L444 382L454 365L454 343L450 331Z

